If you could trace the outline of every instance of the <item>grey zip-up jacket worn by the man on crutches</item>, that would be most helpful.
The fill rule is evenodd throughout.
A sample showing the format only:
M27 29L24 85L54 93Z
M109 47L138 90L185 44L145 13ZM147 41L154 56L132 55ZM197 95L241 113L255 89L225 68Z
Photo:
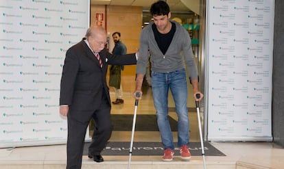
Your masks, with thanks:
M145 75L149 50L151 55L151 70L153 72L169 73L185 68L186 64L189 77L191 77L191 79L198 79L198 70L191 48L189 33L176 21L171 21L171 23L176 24L176 32L165 55L163 55L162 51L159 49L154 38L154 32L152 30L154 23L152 22L142 29L136 73ZM182 57L182 55L184 55L184 57Z

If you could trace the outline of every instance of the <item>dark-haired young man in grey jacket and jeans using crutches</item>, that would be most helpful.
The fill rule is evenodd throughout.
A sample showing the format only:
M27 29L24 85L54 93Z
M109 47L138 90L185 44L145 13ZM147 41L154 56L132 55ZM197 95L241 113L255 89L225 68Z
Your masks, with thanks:
M154 107L165 146L163 161L171 161L174 157L174 141L168 119L168 93L174 98L178 115L178 147L180 157L191 158L189 152L189 116L187 111L187 66L189 79L193 87L193 97L200 101L203 94L198 89L198 70L191 49L191 40L186 29L176 21L170 21L171 12L165 1L156 1L151 5L150 13L154 22L144 27L140 34L139 60L137 61L137 78L134 98L141 99L142 82L147 67L147 53L150 51L152 70L152 94ZM183 55L181 55L183 52ZM139 92L140 97L135 94ZM200 94L200 98L196 97Z

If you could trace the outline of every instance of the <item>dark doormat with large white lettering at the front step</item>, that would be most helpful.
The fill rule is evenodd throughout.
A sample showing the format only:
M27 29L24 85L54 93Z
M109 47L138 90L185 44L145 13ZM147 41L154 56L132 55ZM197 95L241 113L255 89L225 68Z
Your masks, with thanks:
M88 155L90 142L85 142L83 155ZM177 143L175 154L180 155ZM102 151L102 155L129 155L130 142L109 142ZM192 156L202 156L200 142L189 142L189 151ZM164 148L161 142L133 142L132 155L163 155ZM204 142L205 156L226 156L209 142Z

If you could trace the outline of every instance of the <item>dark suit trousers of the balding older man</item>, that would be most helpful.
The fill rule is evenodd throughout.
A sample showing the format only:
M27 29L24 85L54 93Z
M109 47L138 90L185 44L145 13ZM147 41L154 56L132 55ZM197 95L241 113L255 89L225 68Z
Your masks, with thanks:
M86 118L84 121L71 118L71 116L68 116L67 118L67 169L80 169L82 166L84 138L91 118L95 120L92 142L88 148L88 153L91 155L99 155L102 152L110 139L113 128L110 123L110 103L105 92L102 94L102 105L99 109L96 109L94 112L76 113L82 113L81 116L84 116L85 114L90 114L91 116Z

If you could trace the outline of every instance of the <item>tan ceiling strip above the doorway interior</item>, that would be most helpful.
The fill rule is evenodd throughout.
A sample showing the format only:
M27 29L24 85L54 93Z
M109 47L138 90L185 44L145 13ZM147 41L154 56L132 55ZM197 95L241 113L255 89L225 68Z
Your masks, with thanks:
M91 0L91 5L127 5L127 6L142 6L143 10L150 10L152 3L157 0ZM171 12L187 12L191 11L180 0L166 0L169 4Z

